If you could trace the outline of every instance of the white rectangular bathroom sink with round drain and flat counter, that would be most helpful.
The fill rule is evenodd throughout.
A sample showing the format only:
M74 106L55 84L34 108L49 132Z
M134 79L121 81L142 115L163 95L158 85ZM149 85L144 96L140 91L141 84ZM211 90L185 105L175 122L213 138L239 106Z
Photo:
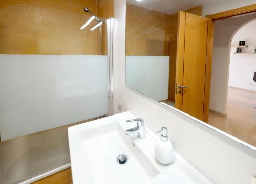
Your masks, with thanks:
M148 129L145 139L125 134L136 126L125 121L134 118L124 112L68 129L74 184L210 183L176 153L172 164L158 163L154 157L157 136ZM118 163L121 154L127 156L125 164Z

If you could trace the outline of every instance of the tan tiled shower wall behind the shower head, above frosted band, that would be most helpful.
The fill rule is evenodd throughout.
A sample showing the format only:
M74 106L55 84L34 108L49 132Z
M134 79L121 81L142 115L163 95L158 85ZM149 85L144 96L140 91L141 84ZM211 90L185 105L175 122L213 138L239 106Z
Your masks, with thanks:
M1 54L93 54L100 49L99 29L80 27L91 18L83 7L102 17L114 16L114 1L98 0L0 1ZM102 26L106 54L106 24Z

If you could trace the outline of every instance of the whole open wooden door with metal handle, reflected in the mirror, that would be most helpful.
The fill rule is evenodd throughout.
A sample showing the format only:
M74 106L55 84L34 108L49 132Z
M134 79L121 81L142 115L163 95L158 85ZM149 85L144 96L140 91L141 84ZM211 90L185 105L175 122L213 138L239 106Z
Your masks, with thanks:
M179 13L175 106L200 120L207 110L204 109L204 99L206 73L209 73L208 21L208 18L198 15Z

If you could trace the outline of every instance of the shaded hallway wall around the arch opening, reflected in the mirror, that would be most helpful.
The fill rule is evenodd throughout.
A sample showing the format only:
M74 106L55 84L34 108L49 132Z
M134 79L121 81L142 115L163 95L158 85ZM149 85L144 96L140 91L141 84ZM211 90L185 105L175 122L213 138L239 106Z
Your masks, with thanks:
M227 112L227 92L230 44L233 34L256 14L215 21L214 49L212 51L210 109Z

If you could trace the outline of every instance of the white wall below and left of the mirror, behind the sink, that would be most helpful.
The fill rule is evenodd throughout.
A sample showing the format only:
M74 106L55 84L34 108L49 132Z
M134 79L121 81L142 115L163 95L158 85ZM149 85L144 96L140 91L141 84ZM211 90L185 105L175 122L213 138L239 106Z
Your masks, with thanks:
M124 0L115 0L115 17L116 104L142 117L154 132L167 126L175 151L212 183L249 183L256 172L255 151L125 86Z

